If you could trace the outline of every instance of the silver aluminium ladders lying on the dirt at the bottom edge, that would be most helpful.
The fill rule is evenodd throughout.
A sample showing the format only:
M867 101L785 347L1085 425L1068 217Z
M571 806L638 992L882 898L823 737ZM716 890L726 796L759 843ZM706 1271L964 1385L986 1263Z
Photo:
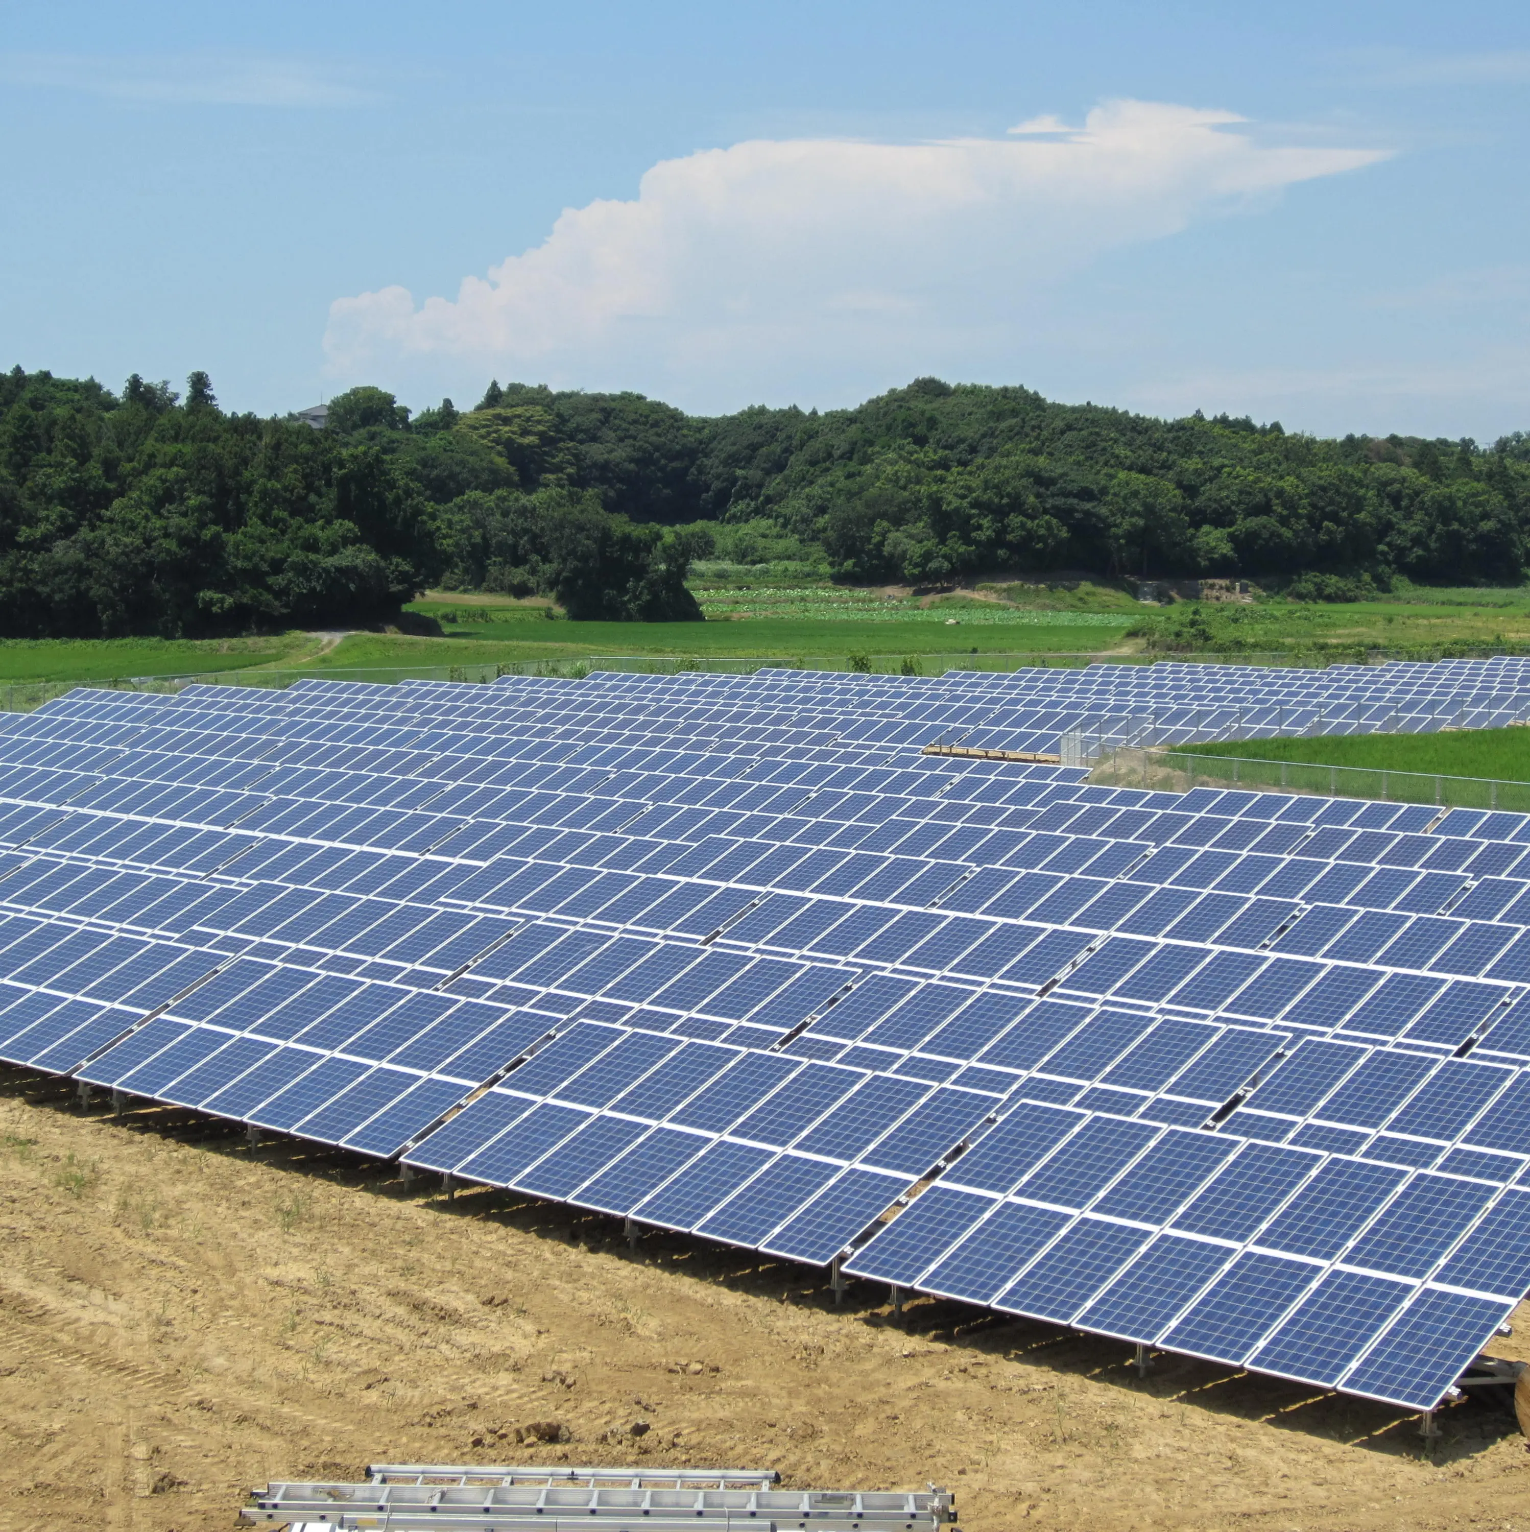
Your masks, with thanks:
M270 1483L240 1509L245 1523L389 1527L415 1532L936 1532L956 1521L953 1497L928 1491L772 1489L769 1469L479 1468L374 1463L361 1485ZM735 1483L740 1488L723 1488ZM711 1488L709 1488L711 1486Z

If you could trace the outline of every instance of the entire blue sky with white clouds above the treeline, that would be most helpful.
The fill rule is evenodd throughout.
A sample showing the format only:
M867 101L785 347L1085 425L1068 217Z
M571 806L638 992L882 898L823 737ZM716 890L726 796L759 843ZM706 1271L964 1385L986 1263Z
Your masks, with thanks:
M1530 429L1530 8L0 11L0 365Z

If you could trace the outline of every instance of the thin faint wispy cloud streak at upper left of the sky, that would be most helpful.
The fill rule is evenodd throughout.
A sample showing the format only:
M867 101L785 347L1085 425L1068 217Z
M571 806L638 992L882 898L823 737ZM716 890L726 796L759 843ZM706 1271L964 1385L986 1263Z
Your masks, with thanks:
M95 57L3 54L0 80L84 90L124 101L211 106L331 107L375 101L346 70L305 58L254 54Z

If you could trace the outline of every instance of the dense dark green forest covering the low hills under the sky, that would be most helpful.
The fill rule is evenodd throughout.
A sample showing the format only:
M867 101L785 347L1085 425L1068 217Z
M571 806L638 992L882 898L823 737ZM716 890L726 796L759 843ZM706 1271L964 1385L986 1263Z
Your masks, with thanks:
M0 634L378 622L432 585L576 619L700 610L689 565L835 579L1247 574L1343 599L1530 571L1530 438L1320 440L920 378L856 409L698 418L637 394L490 385L418 415L357 388L328 423L0 375Z

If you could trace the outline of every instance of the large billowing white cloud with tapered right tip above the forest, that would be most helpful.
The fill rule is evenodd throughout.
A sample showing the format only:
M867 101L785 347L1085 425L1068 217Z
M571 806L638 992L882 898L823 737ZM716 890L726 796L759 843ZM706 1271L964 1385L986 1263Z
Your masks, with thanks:
M634 201L564 211L455 299L337 299L329 371L470 362L732 408L815 369L859 383L1015 351L1037 294L1097 254L1385 158L1259 146L1227 130L1239 121L1115 101L1080 129L1022 123L1018 141L750 141L663 161Z

